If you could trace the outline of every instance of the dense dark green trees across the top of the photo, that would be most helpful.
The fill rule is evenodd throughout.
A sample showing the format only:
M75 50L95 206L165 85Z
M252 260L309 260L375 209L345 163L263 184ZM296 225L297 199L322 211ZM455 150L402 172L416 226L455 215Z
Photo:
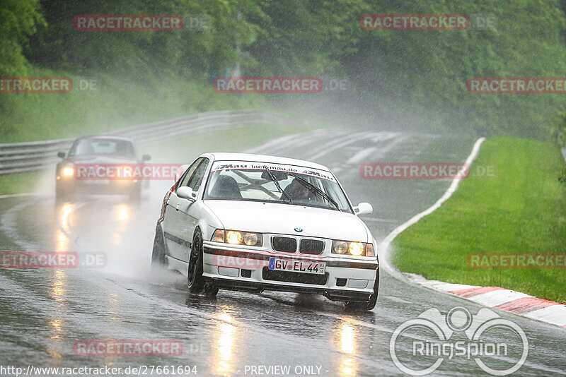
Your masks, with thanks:
M214 76L237 73L236 66L243 76L340 77L352 85L335 101L338 111L483 136L545 139L554 114L566 109L562 95L477 95L466 89L473 77L564 76L566 18L558 0L41 0L42 14L38 1L4 1L3 76L25 72L28 59L56 72L135 80L146 90L167 80L210 85ZM369 31L359 26L363 13L480 14L495 16L497 25ZM207 16L209 28L80 32L71 25L78 14ZM230 95L217 96L222 101ZM305 100L265 97L289 107ZM308 97L317 100L328 98ZM0 111L9 101L0 97Z

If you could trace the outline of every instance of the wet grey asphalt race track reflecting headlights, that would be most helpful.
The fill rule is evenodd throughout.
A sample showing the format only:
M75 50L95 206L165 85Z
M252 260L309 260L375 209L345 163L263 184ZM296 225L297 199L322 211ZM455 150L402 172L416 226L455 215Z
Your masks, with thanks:
M374 205L374 214L363 218L380 241L432 205L449 181L364 180L359 165L463 162L473 141L394 132L313 131L279 138L250 152L312 160L333 169L352 202ZM0 366L197 366L199 376L258 376L259 371L263 376L277 375L279 369L251 373L252 366L289 366L291 376L403 375L390 354L395 328L431 308L446 313L463 306L472 314L480 309L408 285L383 269L378 305L368 313L348 313L340 303L300 294L220 291L216 299L190 296L180 275L149 274L154 226L163 193L171 184L152 185L149 198L140 205L97 196L56 207L49 192L0 200L2 251L76 251L108 257L105 268L0 270ZM514 375L566 375L566 330L509 313L499 315L519 325L529 339L529 356ZM518 338L500 339L503 334L495 331L485 339L507 341L515 350L521 347ZM183 354L74 355L76 340L104 339L177 340L183 343ZM408 354L407 349L399 354L403 352ZM403 359L415 369L434 362L423 360ZM496 366L512 361L483 360ZM432 375L487 373L473 359L453 357Z

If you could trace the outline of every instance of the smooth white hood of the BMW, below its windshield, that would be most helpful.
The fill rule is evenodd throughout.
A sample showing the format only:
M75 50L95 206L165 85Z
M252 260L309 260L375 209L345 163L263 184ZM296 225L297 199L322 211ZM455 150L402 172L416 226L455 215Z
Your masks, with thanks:
M204 201L224 229L371 242L367 227L351 213L283 203ZM302 229L296 232L295 228Z

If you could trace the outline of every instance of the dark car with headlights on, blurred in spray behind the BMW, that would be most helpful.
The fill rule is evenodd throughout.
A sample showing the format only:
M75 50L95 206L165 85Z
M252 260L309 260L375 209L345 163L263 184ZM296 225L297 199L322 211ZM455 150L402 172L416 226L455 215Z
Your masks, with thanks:
M78 195L125 194L139 199L142 181L131 179L125 169L150 160L138 157L134 142L120 136L83 136L77 138L67 155L58 152L62 160L55 169L55 196L67 201Z

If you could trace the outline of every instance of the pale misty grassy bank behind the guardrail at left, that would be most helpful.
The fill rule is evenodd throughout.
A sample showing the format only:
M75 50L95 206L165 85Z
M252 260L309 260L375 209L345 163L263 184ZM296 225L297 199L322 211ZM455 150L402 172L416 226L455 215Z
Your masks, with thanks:
M2 93L0 143L70 138L197 112L265 108L260 95L214 92L207 78L134 78L35 69L28 76L64 76L69 93ZM96 85L86 85L94 83ZM82 86L82 90L81 90Z

